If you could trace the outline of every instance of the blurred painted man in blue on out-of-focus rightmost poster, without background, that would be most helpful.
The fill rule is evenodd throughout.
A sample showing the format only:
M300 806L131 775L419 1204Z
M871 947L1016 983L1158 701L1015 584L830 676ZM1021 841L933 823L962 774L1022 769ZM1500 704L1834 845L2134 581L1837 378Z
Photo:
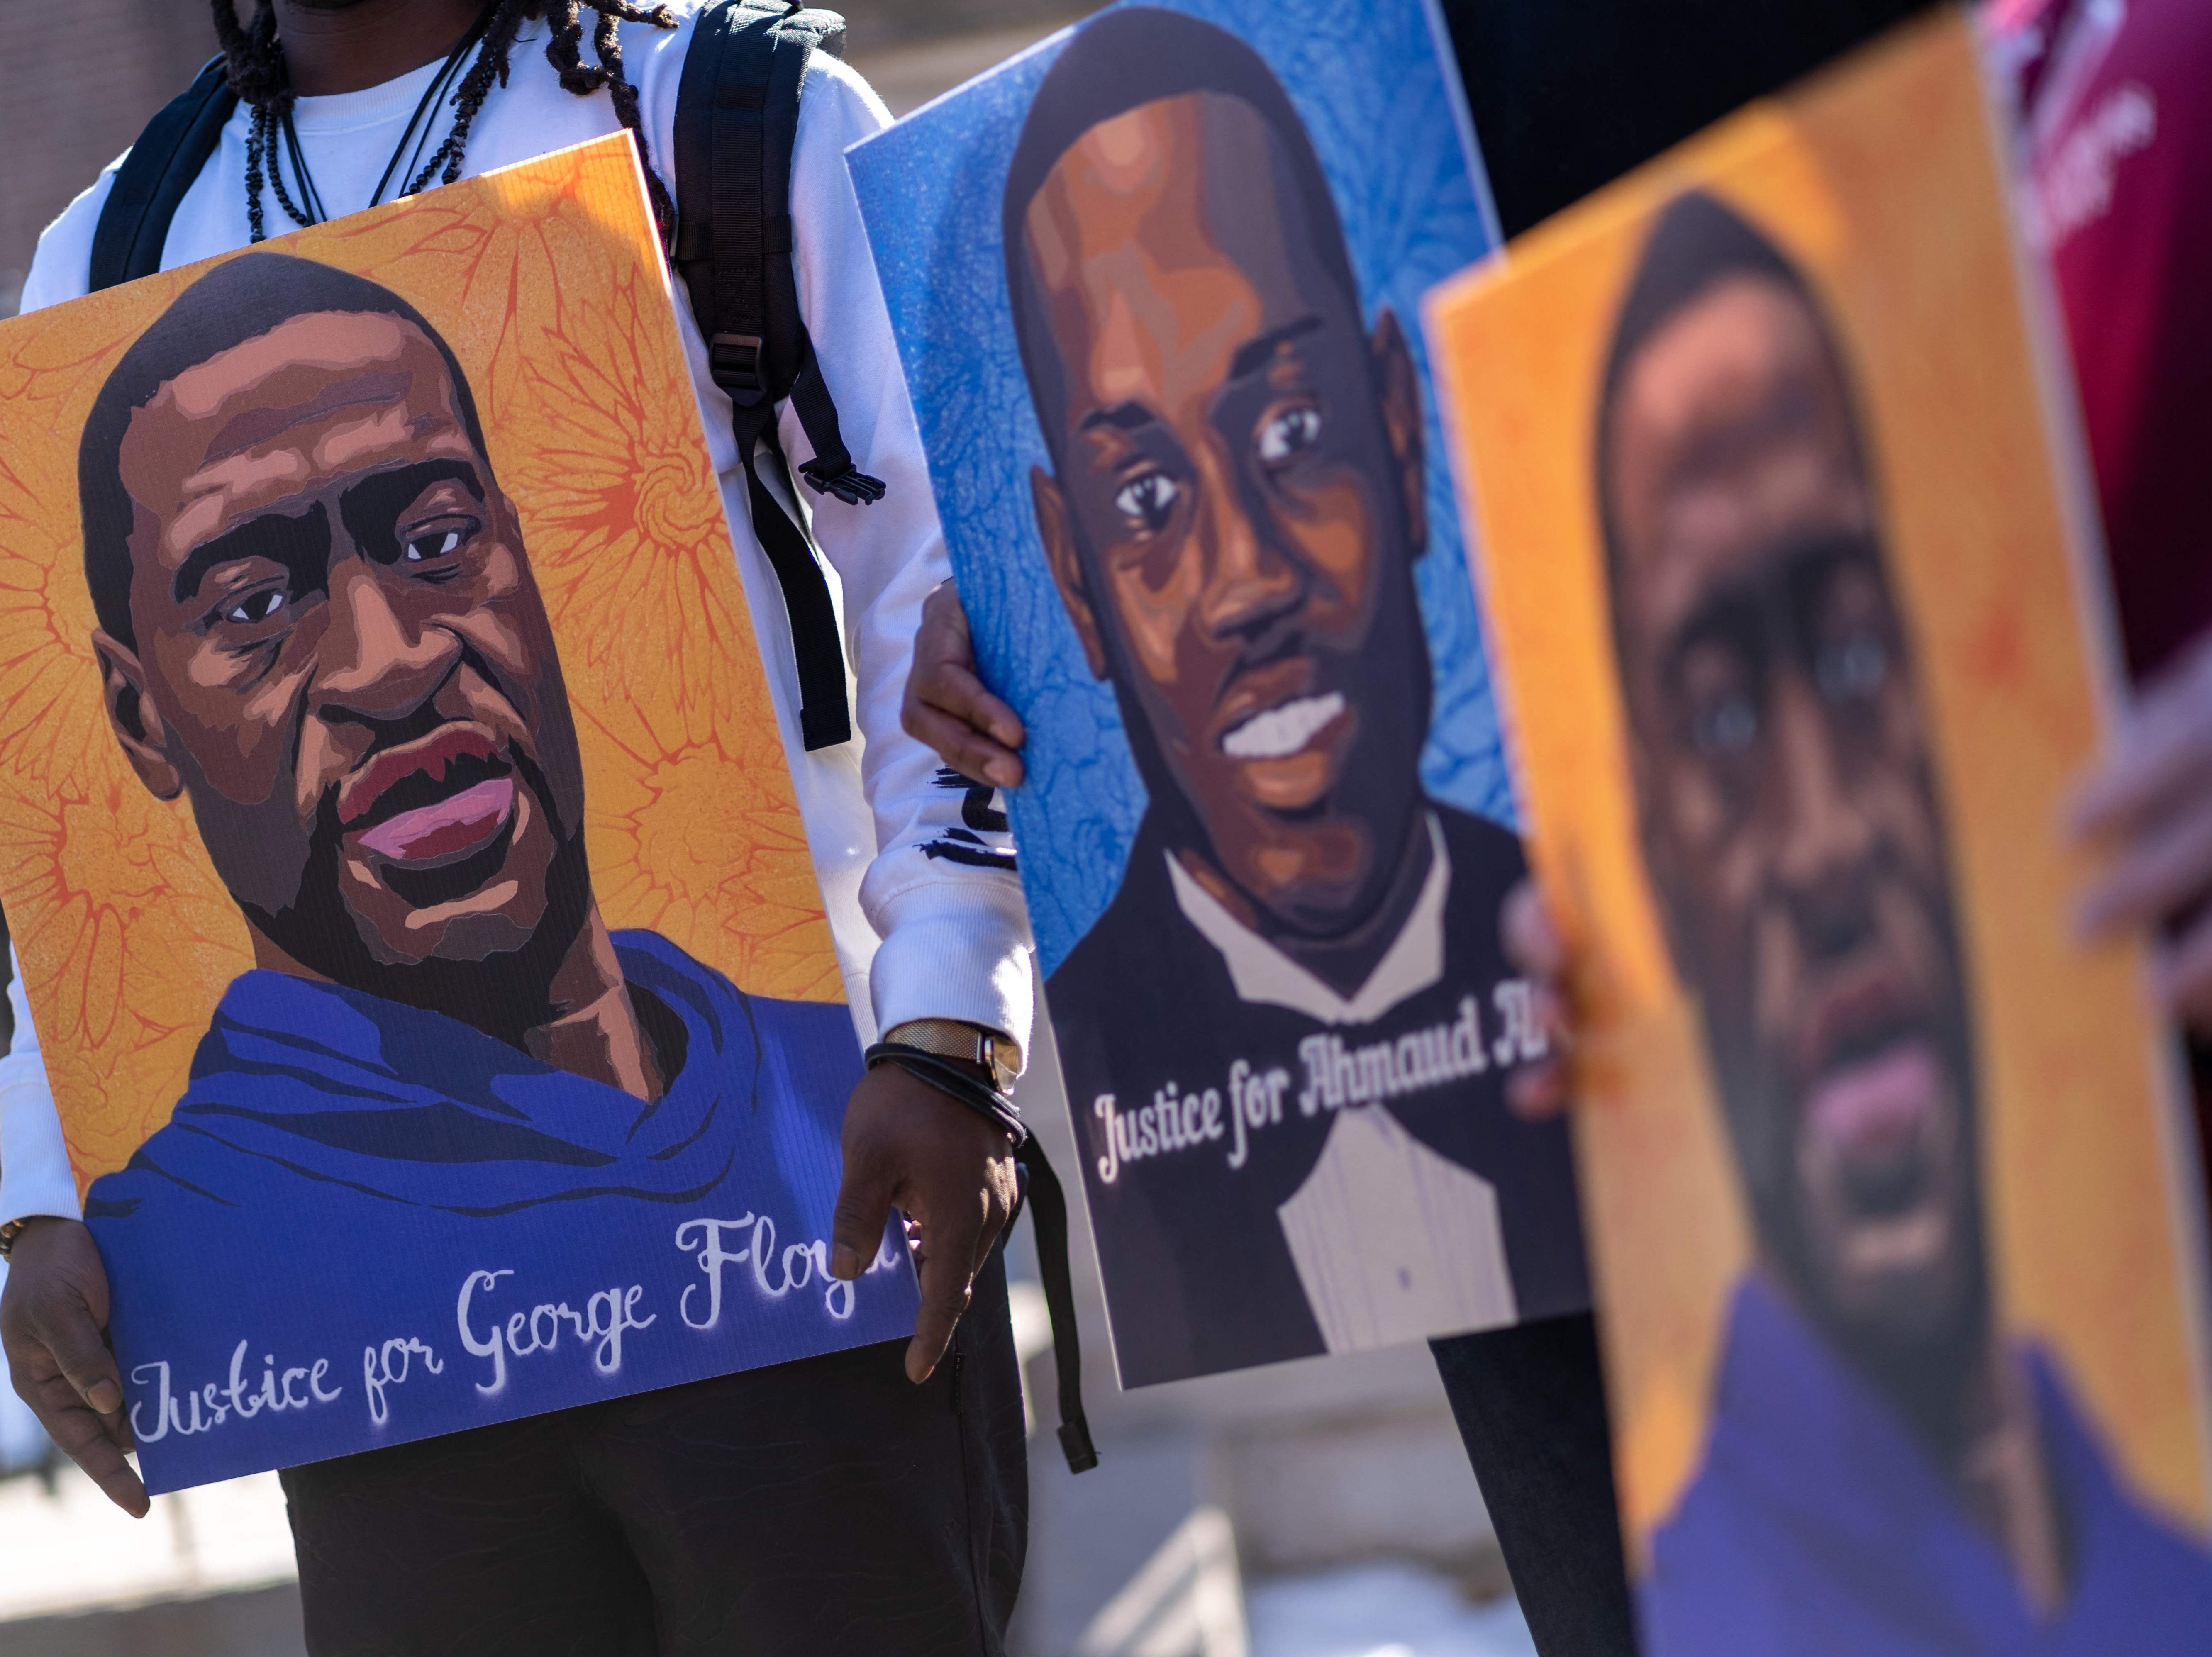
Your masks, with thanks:
M1657 1644L1803 1648L1812 1619L1942 1650L1953 1619L2028 1637L2088 1606L2183 1650L2212 1555L2128 1498L2051 1352L1997 1319L1929 717L1843 347L1710 195L1652 230L1597 451L1644 861L1756 1259L1705 1465L1652 1538ZM1847 1580L1865 1511L1916 1535L1876 1553L1876 1595ZM2011 1582L1949 1580L1982 1551Z

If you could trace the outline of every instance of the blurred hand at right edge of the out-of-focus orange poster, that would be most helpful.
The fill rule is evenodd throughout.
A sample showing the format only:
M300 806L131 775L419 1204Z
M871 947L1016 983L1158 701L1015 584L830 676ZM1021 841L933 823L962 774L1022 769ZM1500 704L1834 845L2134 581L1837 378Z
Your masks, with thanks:
M2084 936L2150 931L2161 1000L2212 1035L2212 642L2143 692L2070 827L2112 850L2081 898Z

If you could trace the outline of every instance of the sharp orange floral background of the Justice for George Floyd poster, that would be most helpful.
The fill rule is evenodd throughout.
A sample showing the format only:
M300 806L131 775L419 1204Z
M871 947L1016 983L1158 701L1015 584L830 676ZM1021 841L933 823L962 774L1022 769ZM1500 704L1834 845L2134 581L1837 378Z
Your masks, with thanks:
M265 246L392 288L460 358L560 646L608 925L845 1000L628 137ZM80 1190L168 1122L252 967L190 807L108 730L77 531L102 381L212 263L0 323L0 905Z

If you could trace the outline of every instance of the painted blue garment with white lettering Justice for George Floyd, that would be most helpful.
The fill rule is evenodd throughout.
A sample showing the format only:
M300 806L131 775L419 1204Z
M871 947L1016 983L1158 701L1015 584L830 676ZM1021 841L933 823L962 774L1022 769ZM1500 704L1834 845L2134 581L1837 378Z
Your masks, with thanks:
M230 984L168 1126L84 1210L153 1489L911 1330L900 1250L825 1270L847 1009L644 931L615 951L684 1031L655 1104L442 1013Z

